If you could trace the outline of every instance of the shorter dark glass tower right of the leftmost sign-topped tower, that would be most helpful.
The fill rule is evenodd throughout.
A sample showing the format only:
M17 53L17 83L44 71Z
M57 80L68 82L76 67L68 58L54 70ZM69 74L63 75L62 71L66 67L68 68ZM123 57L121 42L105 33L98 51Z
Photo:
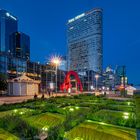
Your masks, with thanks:
M27 71L27 61L30 60L30 37L22 32L10 35L11 59L8 63L9 77L14 78Z

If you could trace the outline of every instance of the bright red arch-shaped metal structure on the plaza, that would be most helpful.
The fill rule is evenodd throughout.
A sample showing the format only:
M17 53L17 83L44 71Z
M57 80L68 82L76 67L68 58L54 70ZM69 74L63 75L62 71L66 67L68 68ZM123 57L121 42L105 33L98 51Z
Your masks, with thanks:
M76 81L77 81L77 88L79 87L80 91L83 91L83 87L82 87L82 83L80 81L80 78L78 76L78 74L75 71L69 71L65 77L64 83L60 86L60 90L64 91L68 91L69 88L72 88L71 85L71 80L70 80L70 76L74 76Z

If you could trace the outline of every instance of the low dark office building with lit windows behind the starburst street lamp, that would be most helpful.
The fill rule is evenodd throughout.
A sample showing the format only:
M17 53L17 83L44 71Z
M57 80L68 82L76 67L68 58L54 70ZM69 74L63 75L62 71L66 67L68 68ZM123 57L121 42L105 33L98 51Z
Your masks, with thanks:
M40 91L47 92L47 89L50 88L51 85L55 87L56 84L56 70L50 64L40 64L37 62L27 62L27 73L26 75L34 80L40 80ZM66 72L57 70L57 85L59 86L64 82Z

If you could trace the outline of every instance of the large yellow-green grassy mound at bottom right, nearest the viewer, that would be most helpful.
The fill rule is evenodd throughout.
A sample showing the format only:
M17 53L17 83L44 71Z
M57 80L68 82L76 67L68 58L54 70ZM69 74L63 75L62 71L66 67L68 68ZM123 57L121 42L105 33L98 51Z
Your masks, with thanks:
M97 122L85 122L65 134L69 140L135 140L134 129Z

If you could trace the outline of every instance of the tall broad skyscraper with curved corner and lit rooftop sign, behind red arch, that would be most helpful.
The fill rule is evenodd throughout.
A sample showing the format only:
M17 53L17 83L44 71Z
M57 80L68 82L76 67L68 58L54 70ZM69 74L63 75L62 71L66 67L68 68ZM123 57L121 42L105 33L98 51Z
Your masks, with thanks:
M92 9L67 23L68 70L102 72L102 9Z

